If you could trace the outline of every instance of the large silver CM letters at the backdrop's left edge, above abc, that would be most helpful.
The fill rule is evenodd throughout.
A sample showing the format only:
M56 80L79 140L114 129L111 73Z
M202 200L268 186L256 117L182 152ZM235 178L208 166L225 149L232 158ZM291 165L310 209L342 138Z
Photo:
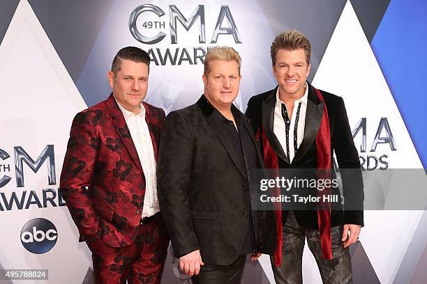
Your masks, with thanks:
M43 163L47 160L47 180L49 185L57 184L55 176L55 155L54 145L46 145L45 149L34 160L28 153L21 147L16 146L13 148L13 156L15 158L15 178L16 186L24 187L24 163L31 168L34 173L37 173ZM0 149L0 173L5 173L0 178L0 188L4 187L12 178L6 173L11 171L8 159L10 155L8 152Z

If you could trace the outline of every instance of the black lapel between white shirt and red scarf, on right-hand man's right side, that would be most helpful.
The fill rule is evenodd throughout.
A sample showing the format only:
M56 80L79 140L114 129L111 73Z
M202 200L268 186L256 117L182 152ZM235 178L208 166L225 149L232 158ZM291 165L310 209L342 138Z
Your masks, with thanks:
M307 83L308 84L308 83ZM308 84L308 100L307 100L307 111L306 111L306 124L304 126L304 139L299 145L297 153L295 154L292 163L299 161L306 152L313 145L317 132L319 131L320 122L323 115L324 102L320 102L319 98L315 94L313 87Z

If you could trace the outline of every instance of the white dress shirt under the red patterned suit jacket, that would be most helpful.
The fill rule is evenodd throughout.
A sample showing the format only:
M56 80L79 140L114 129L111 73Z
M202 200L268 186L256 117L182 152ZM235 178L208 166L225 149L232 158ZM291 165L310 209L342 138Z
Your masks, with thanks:
M144 171L145 196L142 218L153 216L160 211L160 208L157 198L156 159L154 158L153 142L145 120L145 108L143 104L140 104L140 113L136 116L132 111L122 107L121 104L119 104L119 108L126 120L126 125L128 125L130 136L132 136L133 144L141 161L142 171Z

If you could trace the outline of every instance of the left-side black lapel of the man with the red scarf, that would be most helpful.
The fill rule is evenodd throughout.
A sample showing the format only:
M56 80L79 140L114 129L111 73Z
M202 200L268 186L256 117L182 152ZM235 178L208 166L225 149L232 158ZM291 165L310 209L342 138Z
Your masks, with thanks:
M274 107L276 107L277 88L278 86L274 88L274 90L271 90L271 93L262 102L262 127L264 127L265 134L267 135L267 139L269 139L274 152L276 152L280 159L283 159L283 161L286 161L287 164L289 164L289 159L287 159L282 145L280 145L276 134L274 134Z

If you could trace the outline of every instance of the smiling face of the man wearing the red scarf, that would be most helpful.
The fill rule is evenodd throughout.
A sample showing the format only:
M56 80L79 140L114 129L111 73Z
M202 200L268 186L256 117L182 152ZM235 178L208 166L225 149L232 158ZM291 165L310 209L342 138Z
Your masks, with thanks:
M280 93L290 97L302 97L310 67L311 64L307 65L304 49L279 49L273 74L280 87Z

